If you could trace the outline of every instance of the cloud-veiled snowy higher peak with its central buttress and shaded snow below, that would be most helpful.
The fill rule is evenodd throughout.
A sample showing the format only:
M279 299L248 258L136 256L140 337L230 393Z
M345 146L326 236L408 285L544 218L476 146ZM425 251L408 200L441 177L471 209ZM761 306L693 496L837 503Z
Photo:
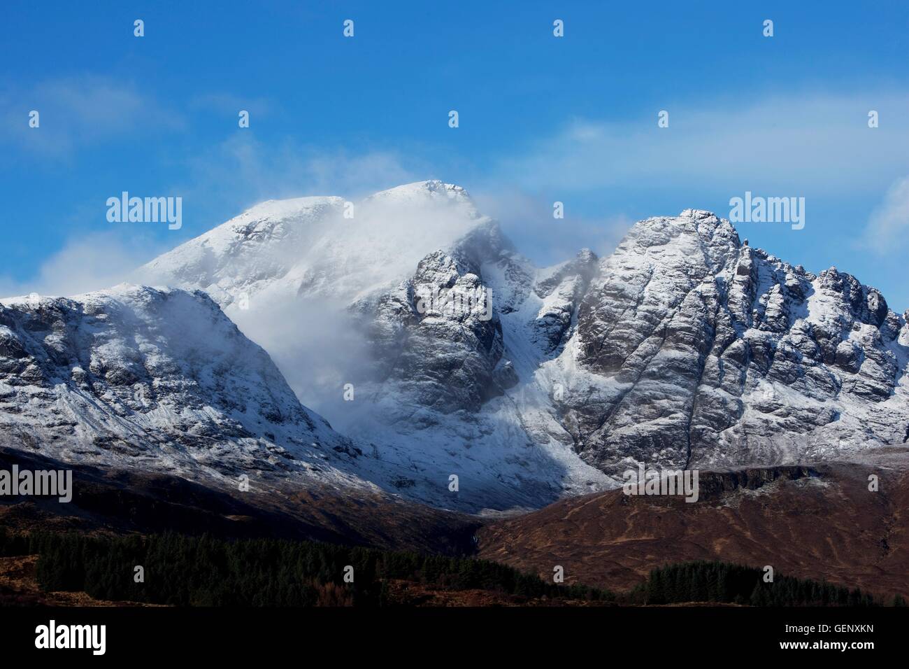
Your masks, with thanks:
M538 389L522 390L520 401L504 393L518 382L515 365L532 375L557 345L580 297L574 268L592 266L593 255L541 274L463 188L437 181L377 193L355 204L354 218L344 207L341 198L265 203L136 276L207 290L305 404L365 452L358 473L393 492L480 512L611 486L549 412L537 411ZM281 249L279 261L268 248ZM487 285L490 318L482 295L476 313L431 299L419 308L434 288L484 293ZM532 324L518 322L527 309ZM510 328L528 348L506 358Z

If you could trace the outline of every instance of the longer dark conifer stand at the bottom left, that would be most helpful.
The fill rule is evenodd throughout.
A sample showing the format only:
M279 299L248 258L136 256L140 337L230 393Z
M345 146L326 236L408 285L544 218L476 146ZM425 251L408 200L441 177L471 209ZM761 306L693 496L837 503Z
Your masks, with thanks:
M177 606L387 605L392 603L388 581L393 579L441 590L480 589L526 598L614 599L605 590L546 583L535 574L473 558L169 532L15 535L0 528L0 555L35 553L36 577L45 591ZM142 567L139 583L136 567Z

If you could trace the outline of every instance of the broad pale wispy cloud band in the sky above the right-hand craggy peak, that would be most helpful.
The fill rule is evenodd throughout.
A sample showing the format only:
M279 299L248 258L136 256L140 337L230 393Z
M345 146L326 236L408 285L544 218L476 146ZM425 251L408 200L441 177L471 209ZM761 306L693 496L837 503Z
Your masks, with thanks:
M864 92L667 102L629 121L574 119L500 162L524 188L849 188L881 192L905 168L909 95ZM868 127L868 112L880 127ZM887 177L887 175L891 175Z

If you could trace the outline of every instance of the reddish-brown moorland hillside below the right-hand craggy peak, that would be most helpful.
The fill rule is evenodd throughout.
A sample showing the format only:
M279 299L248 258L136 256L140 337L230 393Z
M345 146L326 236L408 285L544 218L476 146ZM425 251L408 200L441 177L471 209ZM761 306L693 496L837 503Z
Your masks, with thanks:
M906 449L882 451L868 465L702 471L697 503L618 490L563 500L485 526L479 555L541 576L561 565L566 583L618 590L657 566L720 560L906 595Z

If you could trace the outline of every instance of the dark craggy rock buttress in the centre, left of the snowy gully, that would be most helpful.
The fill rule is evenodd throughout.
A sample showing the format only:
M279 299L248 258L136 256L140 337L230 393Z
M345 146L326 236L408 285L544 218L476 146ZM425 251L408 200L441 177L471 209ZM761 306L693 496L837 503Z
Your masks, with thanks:
M449 251L426 255L394 290L356 305L375 346L379 380L441 413L480 411L514 386L514 369L503 360L502 307L493 307L484 266L518 275L525 285L521 261L498 226L484 223Z

